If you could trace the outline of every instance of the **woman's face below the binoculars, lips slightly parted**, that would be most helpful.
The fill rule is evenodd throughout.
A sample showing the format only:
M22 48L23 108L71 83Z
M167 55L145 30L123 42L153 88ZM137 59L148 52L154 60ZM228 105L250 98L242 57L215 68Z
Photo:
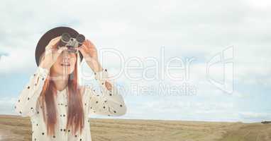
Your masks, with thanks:
M64 50L52 65L51 71L57 75L69 75L74 71L76 61L77 54Z

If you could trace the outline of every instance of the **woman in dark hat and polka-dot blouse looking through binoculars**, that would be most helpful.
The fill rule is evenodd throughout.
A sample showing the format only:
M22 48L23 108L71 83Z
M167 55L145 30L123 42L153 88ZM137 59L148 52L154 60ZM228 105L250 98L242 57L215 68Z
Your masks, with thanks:
M40 38L36 48L38 69L15 104L18 114L31 118L32 140L89 141L89 114L126 114L123 97L101 67L94 44L87 39L77 51L58 47L63 32L78 35L70 27L56 27ZM82 57L94 71L101 90L79 85L77 66Z

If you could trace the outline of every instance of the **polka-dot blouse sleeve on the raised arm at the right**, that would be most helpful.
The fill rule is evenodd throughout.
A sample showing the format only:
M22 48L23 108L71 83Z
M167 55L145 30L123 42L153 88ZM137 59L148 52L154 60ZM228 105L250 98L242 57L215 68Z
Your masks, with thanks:
M94 75L101 90L94 90L89 85L86 85L86 92L89 96L89 113L105 116L122 116L126 114L126 104L123 97L116 89L113 80L109 80L107 70L103 68L102 71L94 73ZM111 90L106 88L106 82L110 82Z

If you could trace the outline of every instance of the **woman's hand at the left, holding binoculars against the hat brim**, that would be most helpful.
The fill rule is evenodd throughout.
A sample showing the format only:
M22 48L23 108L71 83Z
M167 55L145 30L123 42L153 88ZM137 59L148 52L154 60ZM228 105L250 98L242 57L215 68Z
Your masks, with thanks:
M45 56L40 62L40 67L50 70L55 61L57 61L57 57L60 56L63 50L67 49L67 47L57 49L57 43L60 42L60 39L61 36L50 40L49 44L45 47Z

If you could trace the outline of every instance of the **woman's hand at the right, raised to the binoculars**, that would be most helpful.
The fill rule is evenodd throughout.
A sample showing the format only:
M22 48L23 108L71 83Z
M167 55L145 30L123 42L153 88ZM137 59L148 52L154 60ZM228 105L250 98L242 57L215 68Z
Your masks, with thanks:
M92 71L96 73L102 70L101 64L98 60L97 49L89 39L86 39L78 49L87 61L88 66L92 68Z

